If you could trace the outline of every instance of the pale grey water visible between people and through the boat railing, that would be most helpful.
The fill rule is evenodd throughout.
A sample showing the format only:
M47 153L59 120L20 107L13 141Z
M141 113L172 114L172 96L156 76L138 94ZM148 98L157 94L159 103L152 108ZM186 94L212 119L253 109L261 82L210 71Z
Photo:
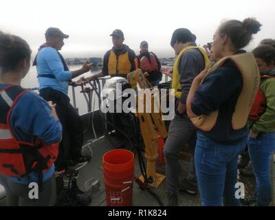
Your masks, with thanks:
M69 66L69 69L71 71L79 69L81 67L80 66ZM83 74L82 76L88 77L88 76L92 76L94 74L97 74L99 71L97 72L87 72L86 74ZM34 87L39 87L39 82L38 79L36 78L37 73L36 73L36 67L31 67L29 73L27 74L27 76L25 76L25 78L23 78L22 80L22 87L25 88L34 88ZM78 76L78 78L80 78L81 76ZM77 80L78 78L75 78L75 80ZM164 82L165 80L165 76L162 77L162 82ZM86 113L87 112L87 102L85 100L85 97L83 96L82 93L80 93L81 91L81 87L76 87L75 88L76 91L76 107L78 108L78 112L80 114ZM38 91L35 91L36 93L38 93ZM72 87L69 86L69 98L71 99L71 103L73 104L73 98L72 98ZM92 100L92 109L98 109L98 99L96 97L96 100Z

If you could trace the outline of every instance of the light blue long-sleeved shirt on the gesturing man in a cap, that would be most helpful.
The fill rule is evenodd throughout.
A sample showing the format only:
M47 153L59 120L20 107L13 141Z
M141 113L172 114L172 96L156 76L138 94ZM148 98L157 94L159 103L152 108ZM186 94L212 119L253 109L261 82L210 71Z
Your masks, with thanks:
M36 58L37 74L52 74L54 78L39 77L39 90L51 87L64 94L68 94L69 80L72 80L72 72L65 71L61 57L53 47L43 47Z

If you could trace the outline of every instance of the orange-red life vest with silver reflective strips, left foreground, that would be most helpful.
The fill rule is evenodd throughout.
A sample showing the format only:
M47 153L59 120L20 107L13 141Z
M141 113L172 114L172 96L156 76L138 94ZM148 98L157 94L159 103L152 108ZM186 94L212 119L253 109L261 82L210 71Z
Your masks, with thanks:
M43 144L17 140L10 126L10 114L17 100L27 92L19 86L0 90L0 175L24 177L50 168L58 155L58 144ZM43 124L41 124L43 126Z

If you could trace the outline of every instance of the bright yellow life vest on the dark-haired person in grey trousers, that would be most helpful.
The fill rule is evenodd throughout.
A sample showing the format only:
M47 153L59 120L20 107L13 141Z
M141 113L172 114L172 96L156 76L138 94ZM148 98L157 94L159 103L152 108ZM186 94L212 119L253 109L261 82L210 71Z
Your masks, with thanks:
M208 56L206 55L206 52L201 47L187 46L183 50L181 50L181 52L179 52L179 55L177 56L176 61L173 66L173 78L172 78L172 95L175 96L176 98L181 97L181 84L179 83L179 76L180 76L179 63L181 61L181 57L184 56L184 54L188 50L192 50L192 49L199 49L199 51L203 55L205 66L208 65L208 63L209 63Z

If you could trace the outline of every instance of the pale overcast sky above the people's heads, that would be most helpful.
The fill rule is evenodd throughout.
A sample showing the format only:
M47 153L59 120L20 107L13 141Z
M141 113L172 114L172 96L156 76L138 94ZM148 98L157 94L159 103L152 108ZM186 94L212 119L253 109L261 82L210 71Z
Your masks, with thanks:
M103 56L115 29L124 32L124 43L136 53L146 40L159 57L174 56L170 37L175 29L188 28L202 46L212 41L221 21L247 17L263 24L248 49L275 38L274 0L0 0L0 7L0 30L23 37L33 54L49 27L69 34L61 51L65 57Z

